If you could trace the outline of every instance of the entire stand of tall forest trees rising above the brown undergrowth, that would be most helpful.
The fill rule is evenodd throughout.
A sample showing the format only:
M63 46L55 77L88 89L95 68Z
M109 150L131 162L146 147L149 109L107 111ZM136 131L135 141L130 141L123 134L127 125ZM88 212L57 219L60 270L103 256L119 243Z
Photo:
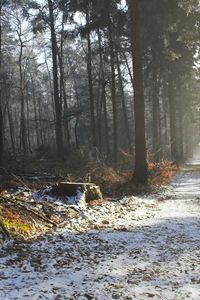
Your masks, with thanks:
M1 154L3 143L15 154L49 144L58 158L84 147L116 168L130 154L138 183L147 160L188 155L187 140L198 140L198 1L4 4Z

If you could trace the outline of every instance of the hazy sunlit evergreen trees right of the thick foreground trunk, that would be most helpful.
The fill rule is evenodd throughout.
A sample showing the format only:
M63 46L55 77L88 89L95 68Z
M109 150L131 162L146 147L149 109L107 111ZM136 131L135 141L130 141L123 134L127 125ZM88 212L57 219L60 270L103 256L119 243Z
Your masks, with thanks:
M197 2L153 0L147 6L145 0L140 1L145 98L152 102L152 118L146 113L146 119L152 126L148 136L155 161L170 157L178 163L183 159L180 118L188 111L183 109L185 97L180 94L192 74L197 51ZM185 85L180 87L182 76Z

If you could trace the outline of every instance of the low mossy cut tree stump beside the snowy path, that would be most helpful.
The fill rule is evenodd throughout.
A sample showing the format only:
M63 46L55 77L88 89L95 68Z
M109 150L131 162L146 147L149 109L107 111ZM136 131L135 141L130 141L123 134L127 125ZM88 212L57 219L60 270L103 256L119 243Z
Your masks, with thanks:
M103 199L100 187L94 183L88 182L60 182L52 186L49 192L51 196L76 196L78 192L85 194L85 201Z

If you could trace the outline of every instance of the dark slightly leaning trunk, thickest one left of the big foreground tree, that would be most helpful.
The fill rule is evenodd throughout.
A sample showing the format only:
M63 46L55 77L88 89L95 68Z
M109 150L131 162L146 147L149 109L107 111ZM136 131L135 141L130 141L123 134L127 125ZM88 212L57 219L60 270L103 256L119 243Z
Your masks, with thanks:
M48 0L49 6L49 22L51 29L51 46L52 46L52 60L53 60L53 85L54 85L54 104L55 104L55 132L56 132L56 146L57 156L62 158L63 156L63 133L62 133L62 106L59 99L59 87L58 87L58 63L57 63L57 40L54 26L54 12L53 3Z

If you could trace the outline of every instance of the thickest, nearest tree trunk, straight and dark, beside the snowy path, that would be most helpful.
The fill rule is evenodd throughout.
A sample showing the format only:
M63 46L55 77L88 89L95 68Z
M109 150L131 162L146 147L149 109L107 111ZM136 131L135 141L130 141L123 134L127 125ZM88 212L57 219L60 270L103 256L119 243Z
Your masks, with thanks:
M140 49L139 0L130 1L132 20L132 56L134 82L134 117L135 117L135 169L133 180L136 184L147 183L147 152L145 138L145 107Z

